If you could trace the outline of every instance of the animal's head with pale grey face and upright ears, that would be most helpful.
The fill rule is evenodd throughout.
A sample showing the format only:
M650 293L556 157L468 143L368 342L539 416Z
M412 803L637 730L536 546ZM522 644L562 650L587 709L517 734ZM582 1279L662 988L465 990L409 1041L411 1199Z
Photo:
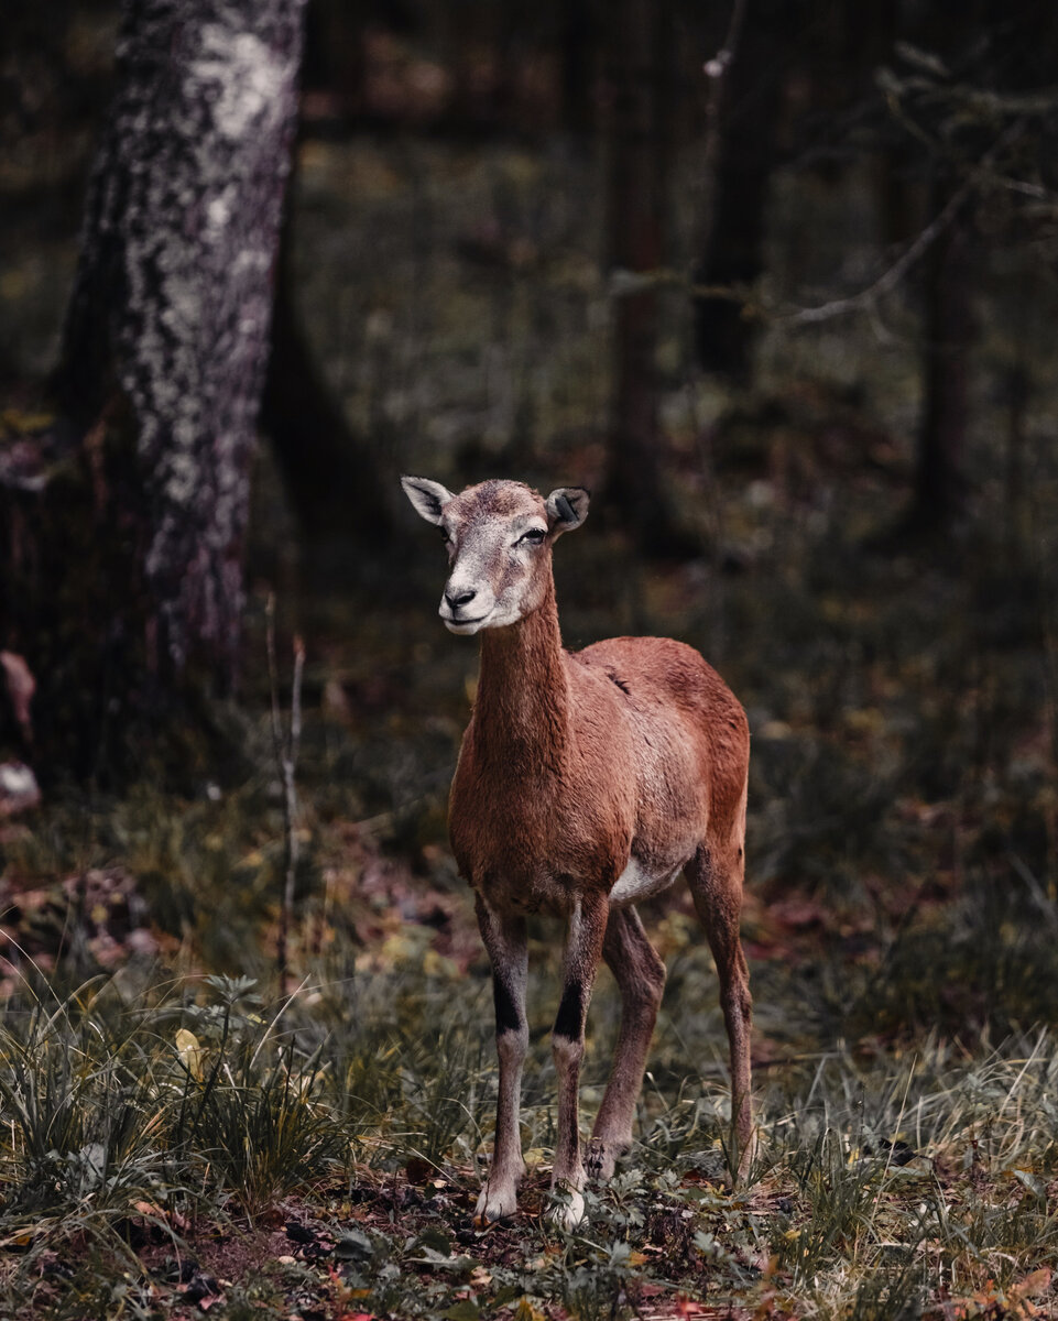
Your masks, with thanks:
M452 568L439 613L452 633L501 629L539 609L552 546L588 517L582 486L544 499L523 482L482 482L458 495L425 477L400 485L415 511L441 528Z

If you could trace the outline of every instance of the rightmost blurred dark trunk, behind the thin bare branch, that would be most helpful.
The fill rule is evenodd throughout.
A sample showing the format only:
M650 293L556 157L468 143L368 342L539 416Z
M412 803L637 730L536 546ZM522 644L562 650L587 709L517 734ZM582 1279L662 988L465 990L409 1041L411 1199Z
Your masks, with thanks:
M943 205L940 190L935 203ZM936 239L926 262L926 324L922 358L922 420L918 431L910 522L940 531L963 509L967 387L975 322L971 230L964 213Z

